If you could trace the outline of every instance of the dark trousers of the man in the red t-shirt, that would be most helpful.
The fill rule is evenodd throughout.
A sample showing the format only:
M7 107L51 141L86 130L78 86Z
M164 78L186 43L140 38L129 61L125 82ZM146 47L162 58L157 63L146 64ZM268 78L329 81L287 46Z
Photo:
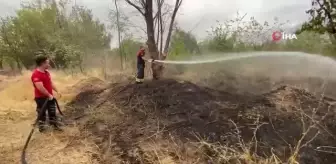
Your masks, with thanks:
M45 109L42 109L43 104L47 101L47 104L45 106ZM46 113L48 112L49 117L49 124L56 126L56 104L54 100L48 100L48 98L35 98L36 102L36 111L37 111L37 117L39 121L39 125L44 125L47 119ZM44 110L44 112L42 111ZM43 113L40 113L43 112Z

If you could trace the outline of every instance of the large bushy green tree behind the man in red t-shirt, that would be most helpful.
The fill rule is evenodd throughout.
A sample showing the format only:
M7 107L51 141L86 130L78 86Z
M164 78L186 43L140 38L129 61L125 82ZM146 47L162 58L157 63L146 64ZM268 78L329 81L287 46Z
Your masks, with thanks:
M49 55L56 68L81 68L85 54L110 47L105 25L67 0L29 1L16 15L2 17L0 27L0 68L30 69L40 54Z

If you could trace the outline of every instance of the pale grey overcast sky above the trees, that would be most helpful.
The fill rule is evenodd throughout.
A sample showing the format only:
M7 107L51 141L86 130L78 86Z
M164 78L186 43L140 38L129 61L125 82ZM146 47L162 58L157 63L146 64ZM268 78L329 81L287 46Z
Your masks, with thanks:
M72 0L72 3L85 5L92 9L94 15L103 22L108 22L108 13L114 8L113 0ZM175 1L172 1L173 3ZM207 30L218 22L223 22L236 16L247 14L258 21L272 22L274 17L280 21L289 21L288 28L297 27L308 19L305 13L310 8L310 0L184 0L177 24L186 31L191 31L197 39L207 36ZM0 16L11 15L20 7L20 0L0 0ZM134 10L121 4L125 12ZM142 22L139 22L139 24Z

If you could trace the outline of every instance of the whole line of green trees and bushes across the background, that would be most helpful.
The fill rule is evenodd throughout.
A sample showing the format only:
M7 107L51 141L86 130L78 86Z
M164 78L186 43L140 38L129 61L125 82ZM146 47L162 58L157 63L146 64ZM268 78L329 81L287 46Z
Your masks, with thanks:
M285 30L288 22L258 22L253 17L237 15L232 20L218 22L199 41L192 31L185 31L176 21L183 0L125 0L111 1L110 26L94 19L84 6L70 5L68 0L33 0L23 4L15 16L2 17L0 22L0 68L31 68L33 57L48 54L56 68L81 68L83 60L108 50L120 57L120 63L134 60L142 44L147 44L154 59L176 59L208 52L237 51L304 51L323 55L336 52L336 14L332 0L313 0L307 10L310 19L297 29L297 40L274 42L271 33ZM141 30L145 39L135 39L130 15L120 3L133 8L145 23ZM112 26L111 26L112 25ZM117 31L118 47L110 49L111 31ZM153 78L159 78L163 66L153 64Z

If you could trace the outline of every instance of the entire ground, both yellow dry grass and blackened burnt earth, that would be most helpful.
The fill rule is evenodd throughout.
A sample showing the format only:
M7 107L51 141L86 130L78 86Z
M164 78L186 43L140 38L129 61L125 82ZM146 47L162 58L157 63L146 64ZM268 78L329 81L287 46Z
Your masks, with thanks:
M141 85L131 73L53 73L68 126L34 134L28 163L336 163L335 82L209 72ZM0 159L8 164L19 163L36 115L29 75L0 82Z

